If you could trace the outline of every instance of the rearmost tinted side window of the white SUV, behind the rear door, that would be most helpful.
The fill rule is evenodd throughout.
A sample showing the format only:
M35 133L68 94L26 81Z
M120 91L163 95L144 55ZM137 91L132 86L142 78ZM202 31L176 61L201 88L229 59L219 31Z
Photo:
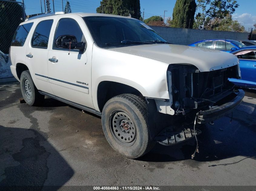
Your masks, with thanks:
M23 46L32 25L33 23L27 23L18 26L18 29L14 34L11 46Z

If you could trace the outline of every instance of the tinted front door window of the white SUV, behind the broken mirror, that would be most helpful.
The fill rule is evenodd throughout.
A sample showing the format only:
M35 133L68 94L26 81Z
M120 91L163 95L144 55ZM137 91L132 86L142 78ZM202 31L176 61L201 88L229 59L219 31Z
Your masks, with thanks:
M56 40L58 39L58 37L62 35L75 36L77 42L85 42L85 37L83 35L81 28L79 27L78 23L71 18L63 18L59 20L54 37L54 48L58 48L56 46Z

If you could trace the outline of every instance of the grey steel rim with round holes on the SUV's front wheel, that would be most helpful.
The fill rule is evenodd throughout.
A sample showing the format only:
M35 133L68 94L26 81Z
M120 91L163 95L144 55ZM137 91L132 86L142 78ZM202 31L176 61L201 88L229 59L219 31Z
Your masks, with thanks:
M124 146L131 146L136 140L136 126L132 118L124 111L111 114L109 120L111 133L115 140Z

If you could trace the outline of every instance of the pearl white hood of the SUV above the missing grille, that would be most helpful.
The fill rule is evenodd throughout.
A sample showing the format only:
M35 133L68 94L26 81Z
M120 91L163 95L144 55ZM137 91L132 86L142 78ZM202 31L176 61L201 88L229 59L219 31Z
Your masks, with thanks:
M228 68L239 63L233 54L219 50L174 44L145 44L111 48L111 50L143 56L168 64L191 64L200 72Z

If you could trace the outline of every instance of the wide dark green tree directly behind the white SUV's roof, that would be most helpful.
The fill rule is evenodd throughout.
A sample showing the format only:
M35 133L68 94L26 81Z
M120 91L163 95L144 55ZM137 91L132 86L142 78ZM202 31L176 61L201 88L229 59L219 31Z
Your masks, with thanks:
M100 6L96 9L97 13L116 14L129 16L132 18L141 18L140 0L102 0Z

